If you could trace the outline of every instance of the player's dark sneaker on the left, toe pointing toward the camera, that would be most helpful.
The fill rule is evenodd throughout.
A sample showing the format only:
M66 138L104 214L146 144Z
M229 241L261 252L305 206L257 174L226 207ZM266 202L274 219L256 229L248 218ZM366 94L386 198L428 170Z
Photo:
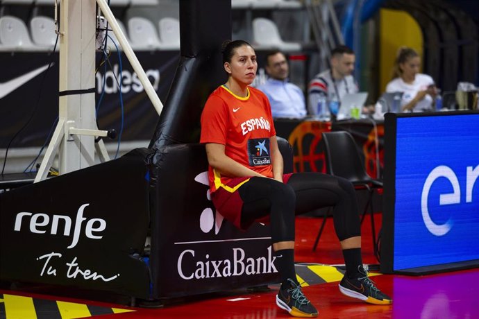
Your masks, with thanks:
M278 304L278 307L285 309L294 317L317 317L318 311L303 294L301 286L296 284L292 279L287 280L289 282L289 288L283 288L283 286L281 286L278 295L276 295L276 304Z

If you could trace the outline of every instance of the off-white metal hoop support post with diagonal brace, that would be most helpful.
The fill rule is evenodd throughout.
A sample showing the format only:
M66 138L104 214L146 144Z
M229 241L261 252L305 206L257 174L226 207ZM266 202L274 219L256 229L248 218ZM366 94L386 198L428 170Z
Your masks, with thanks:
M149 96L158 114L162 112L162 103L153 85L133 49L121 31L115 16L106 0L62 0L60 3L60 21L56 33L60 36L60 92L59 120L47 152L42 160L35 182L47 178L47 173L58 155L59 173L65 174L94 164L94 152L101 162L109 159L103 140L95 143L95 137L105 137L105 130L98 130L95 114L95 43L96 43L96 6L111 26L112 31L130 61L133 69ZM55 2L58 6L58 0ZM57 8L55 8L57 16ZM93 90L92 90L93 89ZM88 90L92 91L89 92Z

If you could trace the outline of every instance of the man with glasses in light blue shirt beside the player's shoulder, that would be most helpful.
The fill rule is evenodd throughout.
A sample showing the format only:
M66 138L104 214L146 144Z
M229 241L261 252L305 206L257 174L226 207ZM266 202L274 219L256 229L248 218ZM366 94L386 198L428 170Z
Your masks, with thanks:
M289 66L281 51L271 51L266 55L266 72L269 75L260 89L268 96L273 117L301 118L306 115L303 91L289 83Z

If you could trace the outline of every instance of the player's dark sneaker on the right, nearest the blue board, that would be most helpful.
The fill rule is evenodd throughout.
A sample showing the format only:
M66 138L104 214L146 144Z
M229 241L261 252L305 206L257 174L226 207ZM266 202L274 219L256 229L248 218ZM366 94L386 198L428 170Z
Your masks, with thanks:
M339 291L348 297L357 298L369 304L392 304L392 299L382 293L367 277L367 266L358 266L361 274L358 278L348 278L344 275L339 283Z

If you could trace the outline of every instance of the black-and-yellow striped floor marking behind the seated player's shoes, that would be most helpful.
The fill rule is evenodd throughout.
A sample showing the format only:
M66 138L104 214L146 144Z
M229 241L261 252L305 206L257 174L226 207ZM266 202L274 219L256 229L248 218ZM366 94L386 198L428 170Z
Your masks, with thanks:
M325 284L326 282L340 282L344 276L344 269L337 266L328 266L321 264L296 264L296 279L301 286L311 286L314 284ZM369 273L369 277L380 274Z

